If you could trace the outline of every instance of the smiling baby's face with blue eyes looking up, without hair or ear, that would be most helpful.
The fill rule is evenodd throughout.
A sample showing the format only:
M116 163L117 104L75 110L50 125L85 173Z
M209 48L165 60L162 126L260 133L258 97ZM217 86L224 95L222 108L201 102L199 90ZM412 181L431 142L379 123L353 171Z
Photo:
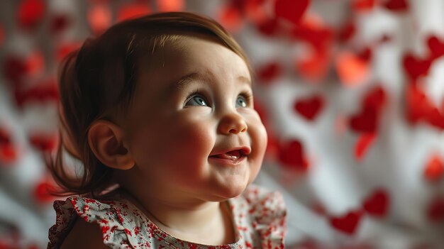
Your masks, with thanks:
M237 196L255 179L267 145L247 65L196 35L155 57L155 67L142 65L123 126L134 180L160 199Z

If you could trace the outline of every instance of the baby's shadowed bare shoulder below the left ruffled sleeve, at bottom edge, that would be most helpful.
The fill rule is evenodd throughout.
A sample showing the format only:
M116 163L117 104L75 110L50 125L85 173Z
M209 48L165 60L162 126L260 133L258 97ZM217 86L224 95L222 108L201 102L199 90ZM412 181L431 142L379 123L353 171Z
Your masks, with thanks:
M71 248L107 248L103 242L101 230L98 224L88 223L82 218L77 218L70 233L62 243L61 249Z

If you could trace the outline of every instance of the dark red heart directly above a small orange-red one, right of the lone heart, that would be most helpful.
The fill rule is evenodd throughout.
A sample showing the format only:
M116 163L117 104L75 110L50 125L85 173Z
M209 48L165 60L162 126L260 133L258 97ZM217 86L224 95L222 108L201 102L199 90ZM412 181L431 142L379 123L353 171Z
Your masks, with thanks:
M379 114L372 108L364 108L360 113L349 120L350 128L362 133L376 133Z

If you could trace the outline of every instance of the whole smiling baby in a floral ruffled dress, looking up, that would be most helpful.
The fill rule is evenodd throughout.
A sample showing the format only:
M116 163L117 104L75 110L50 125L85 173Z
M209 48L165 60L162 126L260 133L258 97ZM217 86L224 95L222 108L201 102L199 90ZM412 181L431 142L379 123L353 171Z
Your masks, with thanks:
M48 248L283 248L282 196L251 182L267 134L245 53L194 13L123 21L60 70L65 193ZM84 167L72 176L62 153Z

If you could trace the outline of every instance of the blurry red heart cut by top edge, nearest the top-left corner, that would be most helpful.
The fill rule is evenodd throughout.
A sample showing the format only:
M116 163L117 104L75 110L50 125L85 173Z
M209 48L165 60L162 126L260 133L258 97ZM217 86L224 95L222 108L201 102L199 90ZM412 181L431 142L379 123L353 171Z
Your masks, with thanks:
M23 0L18 6L18 24L22 28L35 28L44 15L45 3L42 0Z

